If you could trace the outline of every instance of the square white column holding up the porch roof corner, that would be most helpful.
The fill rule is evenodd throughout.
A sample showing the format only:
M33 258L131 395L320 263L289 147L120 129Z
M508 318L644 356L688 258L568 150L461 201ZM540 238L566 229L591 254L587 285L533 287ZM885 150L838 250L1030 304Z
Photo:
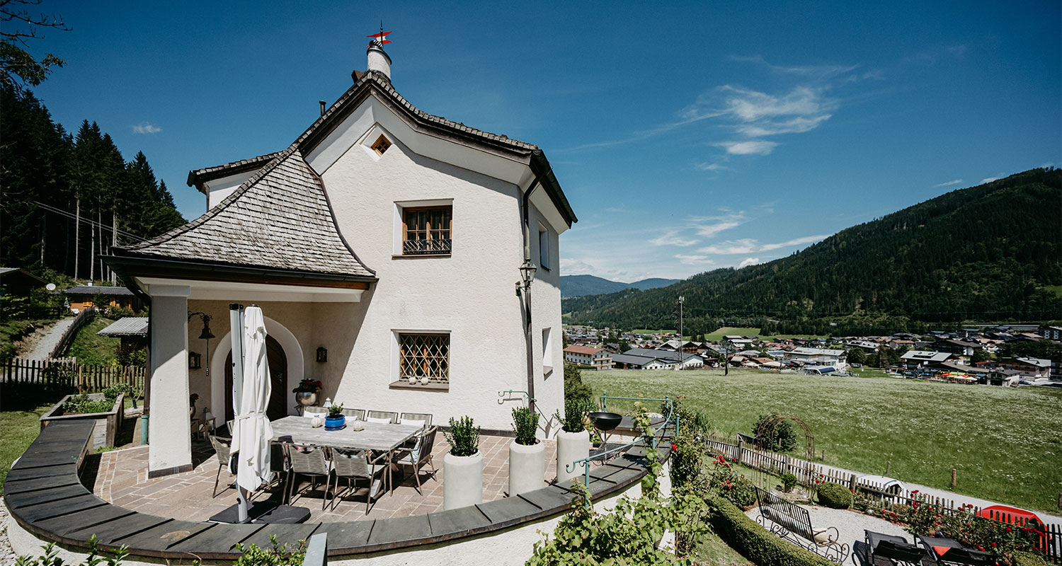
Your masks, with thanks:
M187 286L151 286L151 417L148 475L192 468L188 416Z

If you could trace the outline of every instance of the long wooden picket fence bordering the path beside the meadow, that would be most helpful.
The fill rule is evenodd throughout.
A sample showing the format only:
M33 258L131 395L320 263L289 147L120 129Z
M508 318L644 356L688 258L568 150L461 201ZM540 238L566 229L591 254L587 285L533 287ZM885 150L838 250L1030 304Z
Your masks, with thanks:
M730 441L730 442L727 442ZM746 444L740 436L727 439L718 432L708 434L704 441L708 451L721 454L729 461L737 462L744 466L771 475L792 474L796 481L805 486L813 486L817 482L839 483L855 490L870 497L891 503L910 504L913 501L937 507L948 513L959 513L972 511L975 515L980 513L980 508L963 509L963 503L956 503L955 500L933 497L926 494L914 493L908 490L901 490L897 485L885 486L876 482L860 480L856 474L845 474L837 469L827 468L821 464L815 464L789 454L782 454L770 450L764 450L755 446ZM1017 527L1037 527L1040 525L1025 517L1003 513L996 510L989 510L987 517L990 520L1006 522ZM1044 555L1055 563L1062 563L1062 526L1051 524L1043 525L1040 535L1039 549Z

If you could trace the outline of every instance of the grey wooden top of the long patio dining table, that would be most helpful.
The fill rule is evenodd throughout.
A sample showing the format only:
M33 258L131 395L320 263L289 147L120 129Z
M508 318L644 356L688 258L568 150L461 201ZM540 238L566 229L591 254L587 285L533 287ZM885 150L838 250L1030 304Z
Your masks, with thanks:
M297 444L388 451L412 439L422 428L416 425L363 422L361 424L365 426L364 430L354 430L350 426L354 418L347 417L346 428L325 430L324 427L313 428L312 421L305 416L286 416L273 421L270 423L273 426L273 440L291 436L291 441Z

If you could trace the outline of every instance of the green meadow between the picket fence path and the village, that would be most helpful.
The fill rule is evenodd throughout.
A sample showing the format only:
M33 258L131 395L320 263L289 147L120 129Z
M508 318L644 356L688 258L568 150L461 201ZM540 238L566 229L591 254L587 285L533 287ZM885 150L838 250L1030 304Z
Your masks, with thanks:
M583 372L597 395L685 395L726 432L760 414L804 419L826 464L1058 513L1062 391L754 370ZM610 408L612 404L610 404ZM803 444L803 439L801 439ZM799 448L800 451L802 448Z

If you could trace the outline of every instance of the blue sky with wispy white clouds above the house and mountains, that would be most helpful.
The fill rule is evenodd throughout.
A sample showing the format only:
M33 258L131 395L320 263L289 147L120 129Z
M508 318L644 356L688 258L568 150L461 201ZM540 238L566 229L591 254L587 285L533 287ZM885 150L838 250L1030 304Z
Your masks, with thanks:
M784 257L944 192L1062 162L1062 15L1043 2L53 2L37 96L188 171L287 147L380 19L422 109L546 152L580 222L564 274ZM347 235L353 241L356 235Z

